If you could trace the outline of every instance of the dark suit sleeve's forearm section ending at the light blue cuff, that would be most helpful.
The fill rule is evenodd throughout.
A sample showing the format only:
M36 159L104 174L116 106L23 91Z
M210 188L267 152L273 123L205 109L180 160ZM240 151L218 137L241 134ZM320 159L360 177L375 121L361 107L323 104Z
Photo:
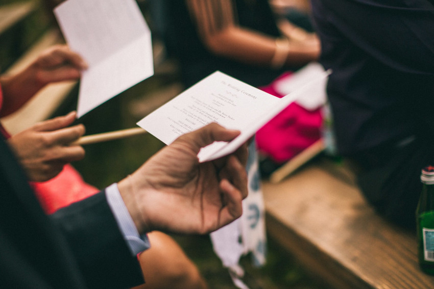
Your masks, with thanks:
M124 288L143 283L102 191L52 215L91 288Z

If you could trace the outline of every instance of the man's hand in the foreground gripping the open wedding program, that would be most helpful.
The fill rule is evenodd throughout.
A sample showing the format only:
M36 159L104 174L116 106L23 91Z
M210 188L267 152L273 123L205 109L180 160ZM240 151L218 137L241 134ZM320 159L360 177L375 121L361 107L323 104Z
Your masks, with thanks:
M239 135L216 123L175 140L118 183L140 233L207 233L240 217L247 197L247 145L199 163L201 147Z

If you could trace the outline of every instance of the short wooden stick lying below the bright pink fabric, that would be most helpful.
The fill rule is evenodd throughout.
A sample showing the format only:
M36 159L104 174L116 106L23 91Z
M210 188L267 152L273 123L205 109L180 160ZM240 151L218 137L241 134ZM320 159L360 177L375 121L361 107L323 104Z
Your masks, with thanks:
M305 148L299 154L294 156L291 160L289 160L286 164L278 168L274 173L270 176L270 182L278 183L283 180L285 177L293 173L296 169L307 163L314 156L318 155L325 149L324 141L322 139L316 141L311 144L309 147Z

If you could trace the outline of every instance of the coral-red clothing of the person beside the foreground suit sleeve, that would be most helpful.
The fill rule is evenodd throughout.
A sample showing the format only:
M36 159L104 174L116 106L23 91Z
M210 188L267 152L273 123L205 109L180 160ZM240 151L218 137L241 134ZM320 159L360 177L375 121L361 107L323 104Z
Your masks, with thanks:
M2 104L3 93L0 86L0 110ZM0 133L5 138L10 138L9 133L1 123ZM30 182L30 185L47 214L51 214L63 206L82 200L99 191L86 183L80 173L69 164L65 165L56 177L45 182Z

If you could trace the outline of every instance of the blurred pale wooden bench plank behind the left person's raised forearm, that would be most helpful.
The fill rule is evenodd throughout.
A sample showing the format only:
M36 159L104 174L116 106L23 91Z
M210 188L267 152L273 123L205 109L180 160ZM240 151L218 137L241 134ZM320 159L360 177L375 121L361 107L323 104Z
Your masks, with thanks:
M62 38L57 30L47 32L19 61L6 73L16 73L29 65L44 49L61 43ZM68 93L75 87L77 81L67 81L50 84L41 89L20 110L1 119L2 124L11 134L21 132L38 121L52 115Z

